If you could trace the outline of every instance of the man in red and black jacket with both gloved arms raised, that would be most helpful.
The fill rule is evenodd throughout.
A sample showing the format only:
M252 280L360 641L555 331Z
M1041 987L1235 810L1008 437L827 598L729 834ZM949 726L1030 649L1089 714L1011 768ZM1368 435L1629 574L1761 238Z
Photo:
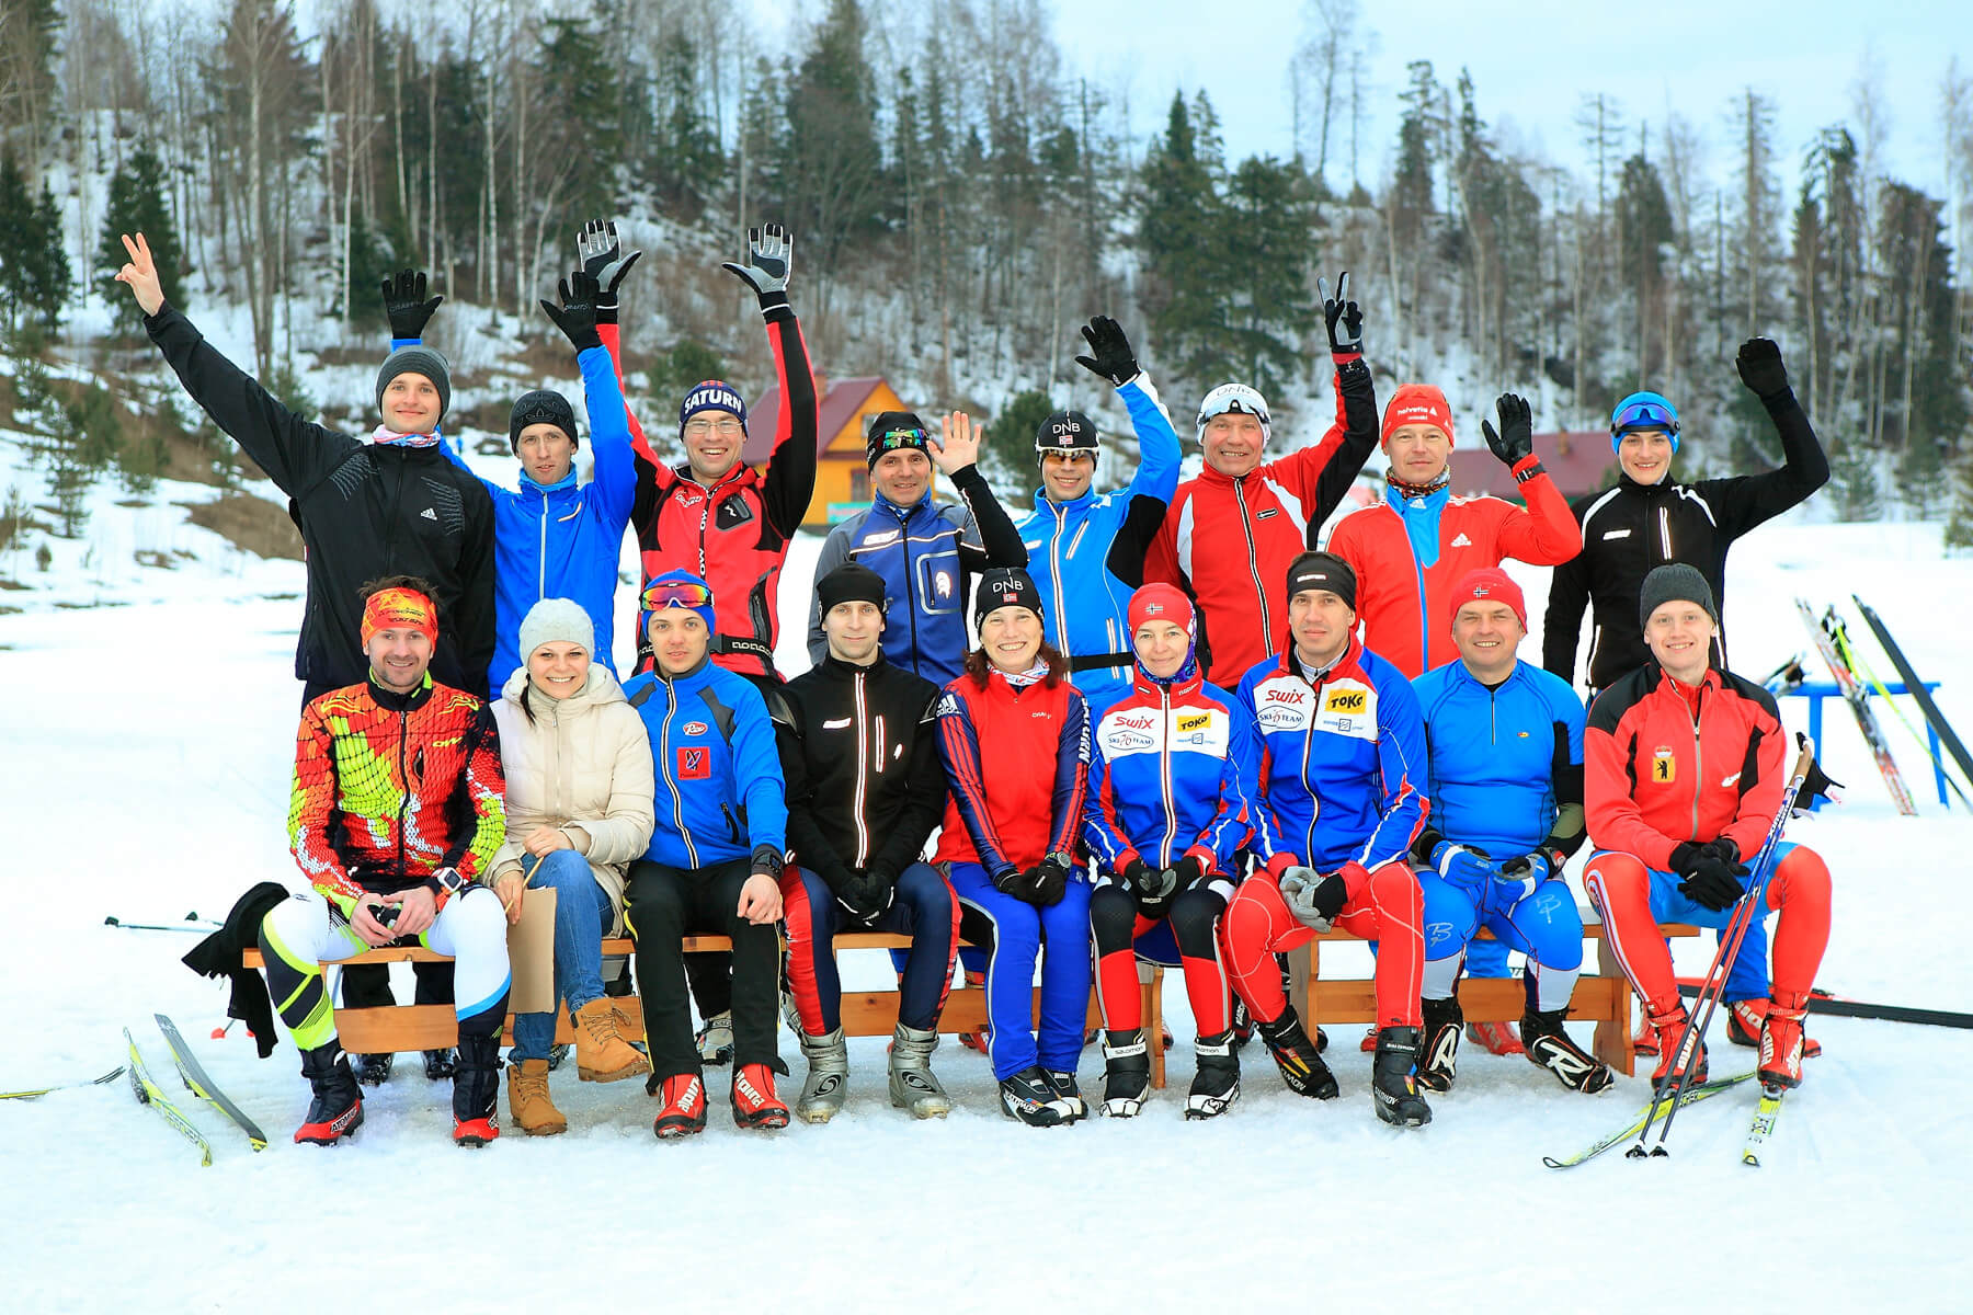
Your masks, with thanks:
M582 264L602 286L596 331L623 375L618 341L618 286L641 252L620 254L616 229L592 225L578 242ZM815 377L801 323L787 304L787 272L793 241L781 225L748 231L748 262L720 268L744 282L760 298L773 351L781 410L775 422L773 455L764 469L742 461L746 448L746 402L732 384L708 379L693 384L679 404L679 440L685 465L665 465L645 440L637 416L629 418L631 450L637 455L637 501L629 522L643 554L643 578L669 570L689 570L712 586L718 599L718 631L712 662L777 682L773 645L781 633L779 586L787 544L801 528L815 497ZM651 645L637 625L637 670L651 668Z

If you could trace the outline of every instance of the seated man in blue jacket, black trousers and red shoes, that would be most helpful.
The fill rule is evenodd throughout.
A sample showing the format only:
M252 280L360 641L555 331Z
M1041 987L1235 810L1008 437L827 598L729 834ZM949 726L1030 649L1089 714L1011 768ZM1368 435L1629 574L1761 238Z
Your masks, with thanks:
M706 1126L681 938L732 936L734 1122L785 1128L773 1074L779 996L781 867L787 800L773 724L760 688L714 666L712 588L683 570L643 588L653 668L623 686L651 735L657 828L629 869L625 919L637 940L651 1090L651 1130L681 1138ZM775 694L779 698L779 694Z

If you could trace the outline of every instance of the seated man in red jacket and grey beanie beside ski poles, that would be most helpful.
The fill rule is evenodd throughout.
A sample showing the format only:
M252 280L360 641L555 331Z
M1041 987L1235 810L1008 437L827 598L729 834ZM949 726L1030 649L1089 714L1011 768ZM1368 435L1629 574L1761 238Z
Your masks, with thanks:
M1748 865L1782 806L1788 733L1774 698L1711 664L1718 607L1705 576L1675 562L1644 578L1638 607L1651 660L1590 704L1584 800L1596 852L1582 887L1604 936L1659 1035L1655 1086L1675 1078L1685 1005L1657 923L1724 927L1746 895ZM1829 867L1807 846L1776 850L1766 917L1774 994L1760 1029L1760 1080L1801 1082L1801 1019L1829 946ZM1695 1078L1705 1078L1699 1049Z

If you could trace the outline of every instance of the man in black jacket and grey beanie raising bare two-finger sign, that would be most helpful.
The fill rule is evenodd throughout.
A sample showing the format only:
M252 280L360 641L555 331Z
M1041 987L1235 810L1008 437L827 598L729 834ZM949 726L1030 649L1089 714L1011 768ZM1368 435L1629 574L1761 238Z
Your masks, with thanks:
M420 576L450 619L432 678L460 690L485 684L493 660L493 501L438 450L452 400L446 359L430 347L393 351L377 375L383 424L369 442L302 420L219 355L185 315L164 304L144 235L124 237L144 329L185 392L290 499L308 548L308 601L294 647L302 702L363 684L359 641L365 582ZM428 302L436 310L438 298ZM426 313L430 313L426 310Z

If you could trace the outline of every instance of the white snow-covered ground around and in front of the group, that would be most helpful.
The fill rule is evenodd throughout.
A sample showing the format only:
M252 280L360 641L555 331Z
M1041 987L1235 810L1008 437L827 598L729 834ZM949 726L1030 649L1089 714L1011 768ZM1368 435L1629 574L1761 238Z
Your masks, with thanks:
M813 552L803 540L787 568L789 668ZM1513 574L1539 623L1545 572ZM1955 660L1969 584L1973 566L1941 558L1936 526L1772 526L1734 556L1734 664L1758 676L1807 651L1795 593L1819 607L1855 589L1918 668L1945 680L1939 702L1973 729L1973 680ZM8 1309L584 1309L653 1291L781 1309L1967 1305L1973 1138L1941 1092L1973 1067L1973 1033L1892 1023L1815 1021L1827 1053L1809 1063L1762 1169L1736 1157L1748 1092L1681 1114L1669 1161L1547 1171L1543 1153L1622 1122L1647 1082L1584 1098L1521 1059L1486 1055L1464 1057L1430 1128L1391 1132L1371 1116L1369 1057L1350 1027L1330 1053L1342 1100L1290 1096L1249 1049L1239 1106L1186 1124L1190 1019L1176 978L1172 1088L1134 1122L1018 1128L994 1110L986 1063L947 1041L935 1067L959 1108L912 1124L888 1106L884 1043L868 1039L850 1043L850 1106L827 1128L738 1134L714 1108L706 1136L659 1145L641 1084L578 1084L564 1071L566 1136L466 1153L446 1138L448 1088L401 1065L369 1092L353 1145L296 1147L306 1090L286 1039L268 1063L237 1027L209 1039L225 988L176 962L193 936L103 919L221 915L256 879L298 883L284 822L300 588L294 562L211 558L105 589L142 599L130 605L6 595L26 611L0 615L12 692L0 798L14 844L0 1088L99 1074L120 1063L130 1027L178 1092L150 1021L166 1011L274 1138L255 1155L183 1096L213 1142L215 1163L199 1169L120 1082L0 1102ZM1861 627L1857 639L1874 653ZM1821 674L1813 653L1807 666ZM1805 724L1799 702L1786 716ZM1920 818L1894 814L1843 708L1827 710L1827 729L1847 802L1791 830L1837 873L1823 984L1973 1009L1957 933L1973 921L1973 822L1932 802L1902 729L1888 733ZM1681 966L1701 972L1709 944L1681 950ZM882 960L862 958L846 962L848 984L880 984ZM1324 954L1330 972L1350 962ZM793 1039L783 1057L795 1086ZM1750 1061L1715 1047L1717 1073ZM1093 1051L1081 1073L1099 1080Z

